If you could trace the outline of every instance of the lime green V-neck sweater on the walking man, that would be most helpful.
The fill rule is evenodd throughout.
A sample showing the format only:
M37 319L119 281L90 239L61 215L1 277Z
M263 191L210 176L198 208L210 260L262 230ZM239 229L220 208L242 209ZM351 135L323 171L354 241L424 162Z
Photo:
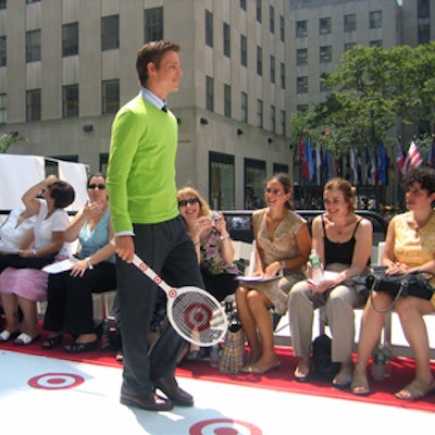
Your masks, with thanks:
M140 95L123 105L112 124L108 194L115 233L178 215L175 158L178 125Z

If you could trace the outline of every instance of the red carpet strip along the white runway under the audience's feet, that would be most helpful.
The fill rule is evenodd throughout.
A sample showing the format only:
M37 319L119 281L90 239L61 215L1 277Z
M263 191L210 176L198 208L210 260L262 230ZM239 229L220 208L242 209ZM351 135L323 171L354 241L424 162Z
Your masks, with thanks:
M44 350L40 343L28 346L14 346L12 341L1 343L0 351L12 350L28 355L36 355L48 358L62 359L67 361L85 362L104 366L122 368L122 364L114 359L111 350L95 350L84 353L66 353L62 347ZM395 406L426 412L435 412L435 394L426 396L422 400L406 401L399 400L394 396L401 387L410 383L414 376L414 361L407 358L391 359L391 376L383 382L370 380L372 394L370 396L356 396L347 390L338 390L331 383L322 381L311 381L310 383L298 383L293 378L296 368L296 358L293 357L291 348L276 347L276 353L281 361L277 371L269 372L263 375L241 374L241 373L221 373L219 369L210 366L208 361L187 361L177 368L176 375L179 377L190 377L195 380L206 380L220 383L228 383L238 386L256 388L268 388L281 391L331 397L335 399L356 400L368 403ZM435 361L431 364L435 374ZM370 370L370 366L369 366Z

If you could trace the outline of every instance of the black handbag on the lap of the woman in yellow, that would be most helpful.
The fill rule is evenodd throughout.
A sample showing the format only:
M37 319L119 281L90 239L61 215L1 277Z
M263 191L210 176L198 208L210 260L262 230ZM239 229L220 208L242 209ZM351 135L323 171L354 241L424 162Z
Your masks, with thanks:
M424 275L435 276L432 272L414 271L405 275L387 275L386 268L375 266L368 275L366 286L370 289L372 307L377 312L391 310L400 297L414 296L430 300L435 291L430 281ZM385 291L394 297L391 304L386 309L378 309L373 301L373 291Z

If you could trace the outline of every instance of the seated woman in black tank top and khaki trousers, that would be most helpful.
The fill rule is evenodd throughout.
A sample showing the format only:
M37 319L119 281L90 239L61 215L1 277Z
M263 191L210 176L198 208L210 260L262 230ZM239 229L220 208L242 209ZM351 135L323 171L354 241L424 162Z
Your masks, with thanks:
M294 353L299 358L295 380L310 378L310 351L313 312L325 308L332 334L332 361L340 363L333 378L336 388L348 388L352 374L355 343L353 308L360 307L365 296L359 291L355 278L365 272L372 250L373 228L370 221L353 212L355 192L343 178L333 178L323 190L326 213L314 219L312 248L319 253L326 271L320 283L297 283L289 294L288 313ZM309 268L309 274L310 274Z

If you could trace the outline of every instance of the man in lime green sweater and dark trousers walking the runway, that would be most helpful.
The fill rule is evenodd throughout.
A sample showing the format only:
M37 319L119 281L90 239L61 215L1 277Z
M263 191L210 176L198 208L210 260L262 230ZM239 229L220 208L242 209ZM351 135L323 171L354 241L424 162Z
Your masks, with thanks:
M178 212L175 158L176 117L166 97L183 75L179 47L146 44L137 54L138 96L117 112L112 125L108 167L109 201L116 244L116 274L124 352L121 402L152 411L192 406L174 373L185 341L166 321L159 339L147 337L158 291L132 264L135 252L171 286L203 288L194 245ZM156 394L156 388L167 399Z

